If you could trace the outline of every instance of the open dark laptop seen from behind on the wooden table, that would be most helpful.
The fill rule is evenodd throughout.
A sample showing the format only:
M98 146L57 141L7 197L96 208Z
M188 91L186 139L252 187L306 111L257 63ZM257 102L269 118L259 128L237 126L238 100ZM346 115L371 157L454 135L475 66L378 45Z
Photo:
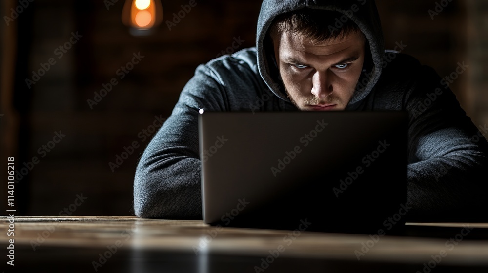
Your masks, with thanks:
M405 223L407 113L203 112L213 226L393 234Z

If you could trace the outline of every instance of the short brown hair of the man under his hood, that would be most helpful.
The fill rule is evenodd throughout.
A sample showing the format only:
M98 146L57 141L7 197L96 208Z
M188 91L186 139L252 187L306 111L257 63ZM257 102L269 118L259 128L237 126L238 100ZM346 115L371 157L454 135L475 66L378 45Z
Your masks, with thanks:
M341 21L345 19L346 22ZM355 32L362 34L364 37L359 26L346 15L337 11L310 8L277 16L271 24L269 33L271 38L273 38L283 32L300 35L317 43L328 39L341 39Z

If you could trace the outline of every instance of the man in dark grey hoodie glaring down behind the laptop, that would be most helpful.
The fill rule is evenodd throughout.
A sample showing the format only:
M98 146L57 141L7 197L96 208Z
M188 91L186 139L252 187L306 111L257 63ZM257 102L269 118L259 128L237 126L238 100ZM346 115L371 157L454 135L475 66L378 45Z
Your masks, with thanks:
M201 108L407 110L409 219L483 219L486 139L474 137L477 127L433 69L385 52L373 0L264 0L256 47L200 65L144 151L134 182L137 216L202 219Z

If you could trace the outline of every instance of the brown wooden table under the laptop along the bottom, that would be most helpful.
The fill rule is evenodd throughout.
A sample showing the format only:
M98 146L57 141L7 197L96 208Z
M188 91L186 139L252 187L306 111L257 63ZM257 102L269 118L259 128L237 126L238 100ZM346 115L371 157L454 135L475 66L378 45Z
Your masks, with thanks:
M13 221L14 227L9 225ZM488 272L488 224L404 236L218 228L136 217L0 217L5 272ZM463 227L465 226L465 227ZM9 229L13 234L9 235ZM14 239L14 264L7 264ZM10 246L12 249L12 246Z

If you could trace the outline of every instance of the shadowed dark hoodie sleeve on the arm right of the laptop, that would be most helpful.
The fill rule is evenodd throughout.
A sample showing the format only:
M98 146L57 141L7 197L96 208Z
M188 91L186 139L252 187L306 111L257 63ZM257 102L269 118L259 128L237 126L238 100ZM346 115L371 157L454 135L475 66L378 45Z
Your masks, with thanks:
M446 80L427 66L418 75L404 97L410 113L410 216L415 221L486 220L484 133L466 115Z

